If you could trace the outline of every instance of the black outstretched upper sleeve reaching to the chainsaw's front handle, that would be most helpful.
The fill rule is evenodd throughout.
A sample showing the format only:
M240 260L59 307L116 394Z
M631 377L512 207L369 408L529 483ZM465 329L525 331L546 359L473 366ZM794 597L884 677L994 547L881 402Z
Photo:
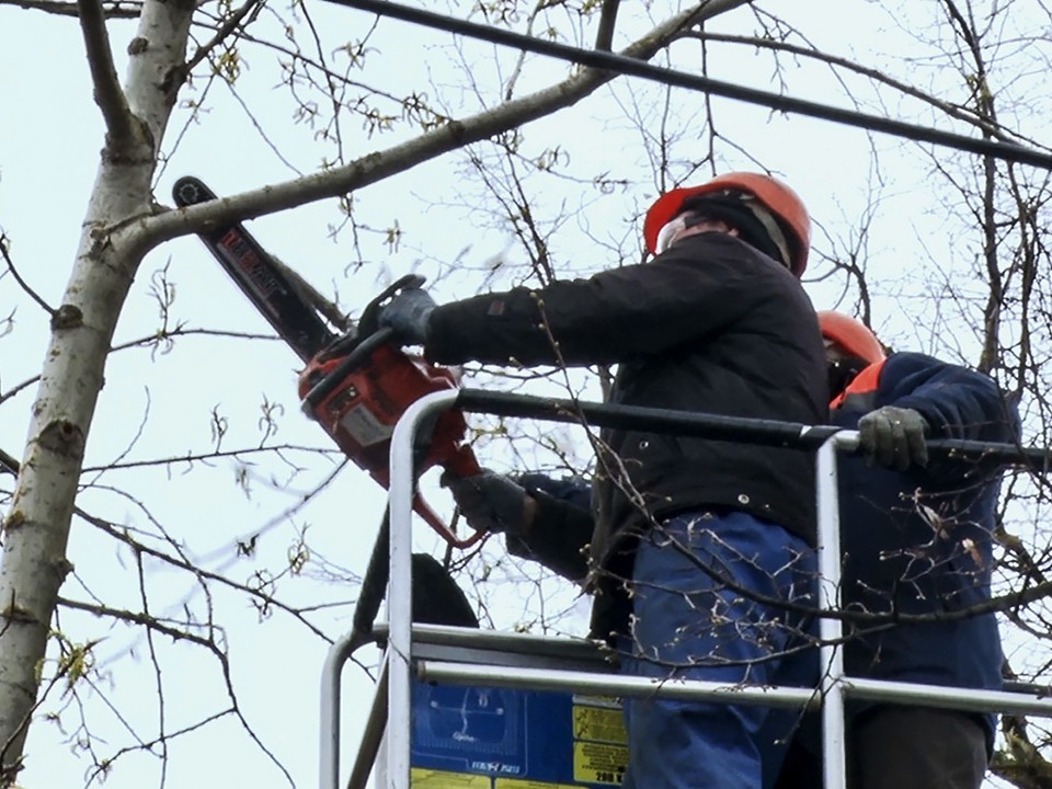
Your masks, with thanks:
M705 342L762 298L758 279L785 277L792 275L742 241L706 233L650 263L441 305L424 351L439 364L523 366L655 356Z

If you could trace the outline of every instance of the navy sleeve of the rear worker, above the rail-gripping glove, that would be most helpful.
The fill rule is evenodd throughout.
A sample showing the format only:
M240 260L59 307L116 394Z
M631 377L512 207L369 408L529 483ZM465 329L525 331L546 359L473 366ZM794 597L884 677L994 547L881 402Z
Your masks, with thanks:
M915 353L893 354L878 387L879 405L914 409L933 438L1019 439L1019 414L988 376Z

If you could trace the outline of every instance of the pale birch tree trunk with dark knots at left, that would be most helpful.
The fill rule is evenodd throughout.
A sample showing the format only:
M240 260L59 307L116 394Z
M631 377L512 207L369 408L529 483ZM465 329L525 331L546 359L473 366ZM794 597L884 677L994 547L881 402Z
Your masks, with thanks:
M0 786L12 786L36 705L92 414L114 328L144 250L112 232L152 210L157 146L183 81L194 4L146 0L129 46L126 90L113 67L101 8L80 3L81 26L106 122L95 183L62 305L52 317L0 564Z

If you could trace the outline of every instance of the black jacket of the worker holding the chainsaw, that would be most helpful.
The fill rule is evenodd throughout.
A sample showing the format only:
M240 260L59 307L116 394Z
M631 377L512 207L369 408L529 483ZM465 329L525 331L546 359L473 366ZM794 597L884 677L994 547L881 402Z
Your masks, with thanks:
M817 320L782 266L723 233L647 264L437 307L425 353L536 365L617 364L611 402L814 424L827 413ZM631 540L676 512L753 513L814 541L810 453L604 430L593 567L631 571Z

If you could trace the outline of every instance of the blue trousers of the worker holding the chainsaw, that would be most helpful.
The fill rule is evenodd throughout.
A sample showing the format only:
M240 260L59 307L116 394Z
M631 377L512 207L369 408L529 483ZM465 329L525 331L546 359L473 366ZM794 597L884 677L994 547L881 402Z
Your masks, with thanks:
M776 524L739 512L676 516L640 539L621 673L814 687L817 650L804 648L810 617L779 603L816 605L816 576L814 550ZM621 786L771 786L798 716L755 705L628 699Z

